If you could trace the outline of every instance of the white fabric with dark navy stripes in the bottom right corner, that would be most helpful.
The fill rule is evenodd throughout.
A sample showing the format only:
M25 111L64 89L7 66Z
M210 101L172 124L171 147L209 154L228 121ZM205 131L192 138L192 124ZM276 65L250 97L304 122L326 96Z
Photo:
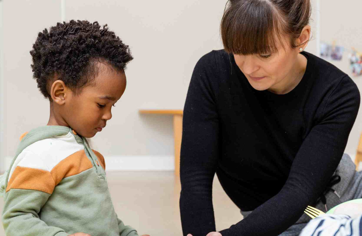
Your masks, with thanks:
M321 215L311 220L299 236L362 236L362 215Z

